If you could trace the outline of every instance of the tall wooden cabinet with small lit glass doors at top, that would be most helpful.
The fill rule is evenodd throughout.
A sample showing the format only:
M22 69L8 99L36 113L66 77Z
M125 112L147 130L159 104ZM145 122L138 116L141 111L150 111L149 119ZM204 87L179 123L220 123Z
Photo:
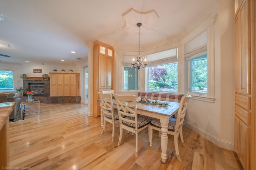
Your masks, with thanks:
M100 116L98 92L113 90L113 48L99 41L94 42L93 77L93 115Z

